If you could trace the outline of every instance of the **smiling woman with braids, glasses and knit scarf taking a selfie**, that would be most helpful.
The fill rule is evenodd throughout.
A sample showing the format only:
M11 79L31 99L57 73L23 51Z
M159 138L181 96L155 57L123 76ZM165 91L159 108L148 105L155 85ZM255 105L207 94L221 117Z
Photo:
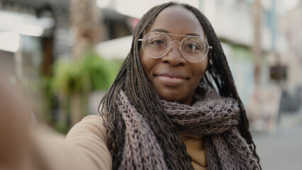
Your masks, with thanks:
M35 137L47 142L36 148L45 166L260 169L220 42L192 6L170 2L145 13L101 104L102 118L84 118L64 143Z

